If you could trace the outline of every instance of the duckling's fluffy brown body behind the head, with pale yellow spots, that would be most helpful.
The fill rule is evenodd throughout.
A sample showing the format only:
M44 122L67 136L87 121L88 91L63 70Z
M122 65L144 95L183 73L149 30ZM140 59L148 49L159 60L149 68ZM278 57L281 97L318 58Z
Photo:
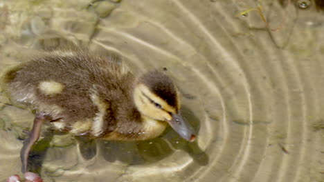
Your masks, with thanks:
M91 129L95 136L102 134L102 120L110 121L106 132L116 129L114 108L134 108L133 81L120 62L84 50L50 52L5 76L12 99L48 114L59 130L83 134Z

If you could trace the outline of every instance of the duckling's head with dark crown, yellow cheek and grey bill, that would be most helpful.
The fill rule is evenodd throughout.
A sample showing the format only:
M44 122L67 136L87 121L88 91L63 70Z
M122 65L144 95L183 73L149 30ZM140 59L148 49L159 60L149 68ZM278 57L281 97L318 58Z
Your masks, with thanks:
M159 71L143 74L134 88L134 102L141 114L158 122L168 122L187 141L195 132L181 117L179 92L172 80Z

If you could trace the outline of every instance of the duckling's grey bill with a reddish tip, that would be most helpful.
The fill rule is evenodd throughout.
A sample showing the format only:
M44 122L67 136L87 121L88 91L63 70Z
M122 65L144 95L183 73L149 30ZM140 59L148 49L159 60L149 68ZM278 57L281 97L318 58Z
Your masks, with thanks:
M181 114L172 114L172 119L168 121L168 123L183 139L186 141L195 141L195 131L188 121L181 117Z

